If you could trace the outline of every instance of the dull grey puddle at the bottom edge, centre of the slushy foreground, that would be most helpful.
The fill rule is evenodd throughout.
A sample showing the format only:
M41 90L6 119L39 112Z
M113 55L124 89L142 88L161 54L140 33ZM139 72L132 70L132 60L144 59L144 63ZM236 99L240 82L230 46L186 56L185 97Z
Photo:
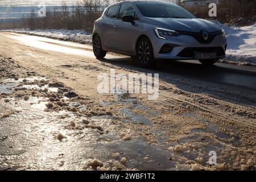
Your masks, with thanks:
M113 153L118 152L120 159L125 156L127 167L137 168L142 171L176 169L176 164L180 162L177 158L173 158L171 151L148 144L142 138L135 138L125 142L112 142L102 147L108 148Z

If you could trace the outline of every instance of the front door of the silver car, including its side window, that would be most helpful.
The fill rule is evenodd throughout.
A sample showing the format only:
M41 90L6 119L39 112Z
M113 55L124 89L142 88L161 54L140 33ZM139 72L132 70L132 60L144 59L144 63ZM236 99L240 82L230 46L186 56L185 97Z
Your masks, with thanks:
M123 22L122 16L132 15L134 16L135 24L130 22ZM139 33L138 28L138 15L135 12L133 6L129 3L122 3L117 21L115 22L115 28L117 29L117 47L120 51L134 52L133 45L137 39L137 34Z

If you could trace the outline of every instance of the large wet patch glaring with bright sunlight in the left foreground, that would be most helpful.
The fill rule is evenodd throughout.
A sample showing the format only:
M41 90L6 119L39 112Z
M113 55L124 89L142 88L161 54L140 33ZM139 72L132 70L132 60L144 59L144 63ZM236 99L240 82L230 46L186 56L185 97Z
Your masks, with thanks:
M71 117L68 119L73 119L72 113L66 111L51 113L44 111L46 103L48 103L46 100L48 98L30 97L28 101L19 100L17 104L10 105L13 110L19 112L10 115L9 118L1 118L0 155L29 157L27 151L35 155L31 147L40 146L39 143L46 138L52 141L53 133L59 131L59 128L63 126L64 119L57 119L57 116L69 114ZM30 105L30 103L34 104ZM55 142L55 139L53 141ZM23 159L21 160L23 161ZM15 160L13 161L15 162ZM23 161L23 163L26 162Z

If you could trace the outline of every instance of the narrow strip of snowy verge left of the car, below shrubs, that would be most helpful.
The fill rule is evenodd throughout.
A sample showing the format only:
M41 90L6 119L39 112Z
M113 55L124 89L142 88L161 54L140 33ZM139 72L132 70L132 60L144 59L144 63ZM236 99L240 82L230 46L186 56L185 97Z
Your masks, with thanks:
M92 35L84 30L30 30L27 28L14 30L0 30L5 32L15 32L20 34L43 36L45 38L65 40L70 42L77 42L81 44L92 44Z

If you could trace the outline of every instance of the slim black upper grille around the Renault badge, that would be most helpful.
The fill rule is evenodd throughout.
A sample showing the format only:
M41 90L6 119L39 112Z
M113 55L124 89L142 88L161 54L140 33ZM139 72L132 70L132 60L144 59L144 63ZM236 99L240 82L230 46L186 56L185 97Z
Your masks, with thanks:
M198 42L200 42L201 44L209 44L213 41L213 39L217 36L221 34L221 31L215 31L215 32L209 32L209 36L208 39L205 40L202 36L201 32L187 32L187 31L179 31L182 35L189 35L192 36L193 38L195 38Z

